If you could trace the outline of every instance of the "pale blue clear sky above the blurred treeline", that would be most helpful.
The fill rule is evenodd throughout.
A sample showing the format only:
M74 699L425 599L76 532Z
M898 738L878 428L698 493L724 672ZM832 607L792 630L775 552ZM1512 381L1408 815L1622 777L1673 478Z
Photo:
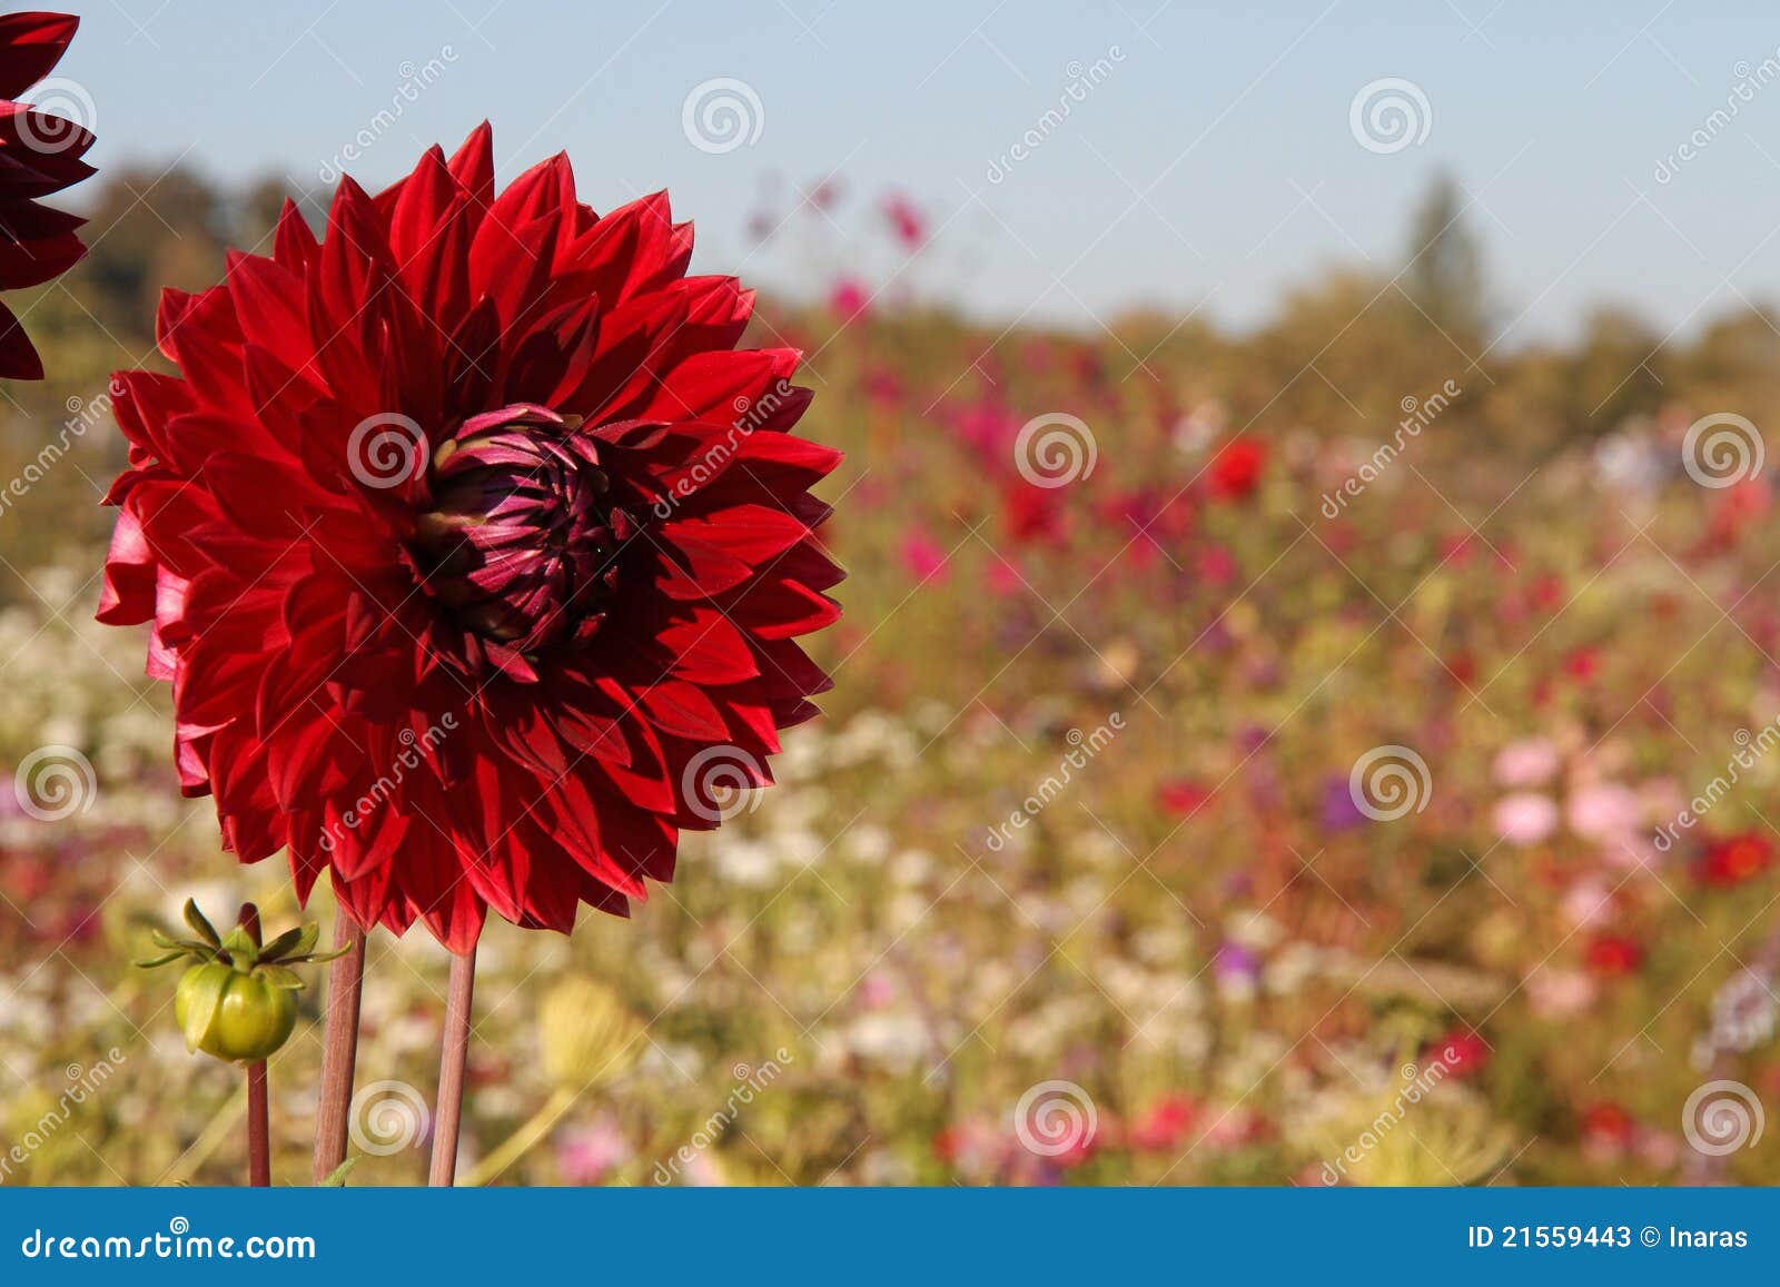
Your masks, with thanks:
M1771 5L1664 0L96 0L61 71L93 98L100 164L183 157L217 178L315 185L372 130L345 169L376 185L486 116L506 174L568 150L598 208L668 187L698 219L700 267L764 285L851 255L863 208L840 230L796 221L767 249L746 237L764 192L835 171L860 206L902 189L942 228L906 269L886 249L854 260L869 276L1089 328L1136 304L1253 324L1330 263L1392 265L1415 196L1449 169L1513 345L1568 335L1606 299L1687 335L1780 297L1764 59L1780 69ZM1043 128L1096 62L1107 75ZM717 78L753 91L758 137L712 153L682 109ZM1426 103L1426 137L1394 151L1351 128L1383 78ZM990 182L1029 130L1040 146ZM1696 130L1705 146L1677 164Z

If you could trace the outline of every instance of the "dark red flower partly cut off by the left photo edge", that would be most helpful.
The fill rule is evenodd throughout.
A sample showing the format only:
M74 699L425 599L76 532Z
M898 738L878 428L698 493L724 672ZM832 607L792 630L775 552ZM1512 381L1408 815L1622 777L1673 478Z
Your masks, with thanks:
M78 18L0 16L0 290L36 287L68 272L85 255L66 210L37 205L93 173L82 160L93 135L62 116L16 101L68 52ZM43 379L43 360L20 320L0 304L0 377Z

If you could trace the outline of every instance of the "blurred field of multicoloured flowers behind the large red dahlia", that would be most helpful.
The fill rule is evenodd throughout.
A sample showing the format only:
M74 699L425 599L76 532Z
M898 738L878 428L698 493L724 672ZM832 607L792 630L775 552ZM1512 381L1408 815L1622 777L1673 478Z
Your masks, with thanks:
M931 310L947 265L883 210L915 271L758 336L849 452L837 689L630 924L491 924L465 1170L1780 1180L1769 317L1493 354L1413 274L1337 274L1248 336L1004 329ZM126 217L119 256L203 276ZM68 299L128 317L105 246ZM0 518L5 1184L235 1178L239 1079L130 961L189 895L297 920L178 796L142 641L91 623L121 445L39 449L117 360L14 406L0 461L36 461ZM372 938L352 1184L425 1171L443 988L422 935ZM281 1177L315 993L271 1070Z

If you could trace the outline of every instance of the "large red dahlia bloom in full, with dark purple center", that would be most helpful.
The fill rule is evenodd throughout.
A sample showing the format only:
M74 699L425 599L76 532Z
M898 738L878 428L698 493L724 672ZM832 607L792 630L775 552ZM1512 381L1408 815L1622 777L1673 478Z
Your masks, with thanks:
M838 616L808 495L838 452L691 253L666 196L600 217L566 157L497 196L484 125L166 294L183 379L119 376L100 619L153 621L185 794L242 862L465 952L488 908L623 915L771 781L829 687L794 635Z

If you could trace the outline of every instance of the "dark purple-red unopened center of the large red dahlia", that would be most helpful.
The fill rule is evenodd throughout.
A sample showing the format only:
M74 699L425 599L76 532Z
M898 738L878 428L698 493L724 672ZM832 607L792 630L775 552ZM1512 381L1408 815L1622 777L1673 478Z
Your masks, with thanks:
M598 445L539 406L472 417L434 454L418 520L427 586L466 630L520 653L591 639L635 530Z

